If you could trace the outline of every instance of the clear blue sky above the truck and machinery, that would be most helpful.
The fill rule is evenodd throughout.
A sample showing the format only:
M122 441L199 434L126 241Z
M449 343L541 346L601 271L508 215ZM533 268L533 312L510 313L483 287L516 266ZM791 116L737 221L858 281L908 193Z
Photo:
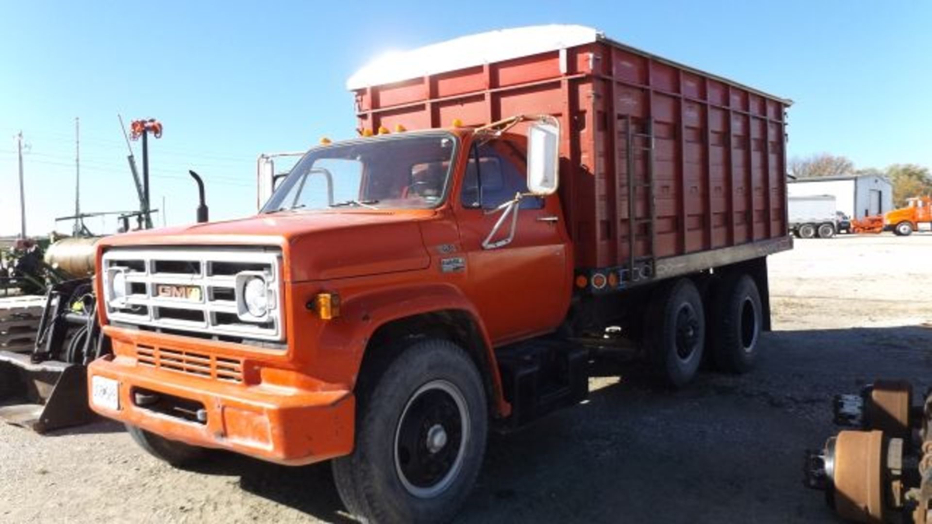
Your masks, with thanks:
M23 131L27 226L82 208L137 206L117 122L157 117L154 207L195 217L187 169L212 218L254 213L255 158L353 136L346 78L388 49L540 23L610 37L793 99L789 154L858 167L932 167L932 2L0 2L0 234L19 231ZM138 145L136 154L139 156ZM161 219L158 218L158 222ZM113 220L89 220L112 231ZM70 231L70 224L59 229Z

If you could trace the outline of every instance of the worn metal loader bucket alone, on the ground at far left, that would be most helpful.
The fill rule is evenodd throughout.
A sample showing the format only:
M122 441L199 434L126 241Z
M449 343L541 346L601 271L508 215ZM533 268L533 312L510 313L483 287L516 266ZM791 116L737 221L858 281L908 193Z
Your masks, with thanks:
M88 406L86 366L34 364L29 354L0 351L0 420L46 433L95 416Z

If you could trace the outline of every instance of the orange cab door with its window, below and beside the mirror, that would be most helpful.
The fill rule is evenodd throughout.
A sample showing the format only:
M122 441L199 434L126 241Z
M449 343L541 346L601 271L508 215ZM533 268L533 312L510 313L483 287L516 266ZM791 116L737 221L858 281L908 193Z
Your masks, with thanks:
M495 344L553 331L569 308L571 247L555 195L523 198L514 238L483 246L510 236L511 216L489 239L500 205L528 191L524 151L516 140L473 143L453 199L466 256L465 291Z

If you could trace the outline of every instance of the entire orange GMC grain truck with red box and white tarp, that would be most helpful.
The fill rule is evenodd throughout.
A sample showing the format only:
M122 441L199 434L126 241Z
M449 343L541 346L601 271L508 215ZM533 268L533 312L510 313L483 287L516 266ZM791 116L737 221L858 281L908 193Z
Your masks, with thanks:
M349 511L452 517L487 432L631 357L743 372L787 228L789 101L581 26L475 34L349 79L240 220L109 237L91 407L172 464L332 460Z

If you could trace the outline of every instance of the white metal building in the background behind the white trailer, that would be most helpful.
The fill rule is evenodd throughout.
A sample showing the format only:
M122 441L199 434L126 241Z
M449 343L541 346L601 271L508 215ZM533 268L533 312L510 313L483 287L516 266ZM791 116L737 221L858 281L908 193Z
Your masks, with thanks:
M852 218L884 214L893 209L893 185L884 176L817 176L790 179L788 183L788 196L832 195L838 211Z

